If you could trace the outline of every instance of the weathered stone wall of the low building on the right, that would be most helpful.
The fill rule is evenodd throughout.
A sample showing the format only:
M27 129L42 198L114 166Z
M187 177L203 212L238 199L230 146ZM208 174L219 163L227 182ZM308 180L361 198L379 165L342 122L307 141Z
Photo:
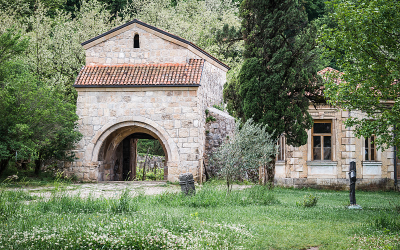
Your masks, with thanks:
M352 127L345 127L348 117L363 117L360 112L337 110L329 105L309 107L313 119L332 121L332 161L311 160L311 131L308 142L300 147L286 145L285 164L276 168L276 182L283 186L348 186L350 161L355 161L360 185L386 189L394 178L393 148L377 150L375 162L365 162L364 138L354 136Z

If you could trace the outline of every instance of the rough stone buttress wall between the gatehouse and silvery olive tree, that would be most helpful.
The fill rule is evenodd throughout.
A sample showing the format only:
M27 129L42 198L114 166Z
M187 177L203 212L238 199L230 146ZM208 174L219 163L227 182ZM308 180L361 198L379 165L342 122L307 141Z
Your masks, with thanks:
M210 120L205 123L204 165L207 172L215 176L218 169L209 166L209 157L222 144L226 136L233 135L235 120L229 114L215 107L208 107L207 110L208 115L214 117L215 121Z

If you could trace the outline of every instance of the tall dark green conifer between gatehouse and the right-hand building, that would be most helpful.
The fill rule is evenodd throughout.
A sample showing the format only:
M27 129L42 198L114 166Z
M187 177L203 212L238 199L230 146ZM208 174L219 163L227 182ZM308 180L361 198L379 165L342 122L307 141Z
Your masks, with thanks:
M310 84L319 82L313 79L315 27L296 0L243 0L240 17L244 62L230 87L238 89L231 106L245 119L266 124L273 137L284 133L288 144L305 144L312 125L308 104L318 100L319 85ZM267 181L273 175L274 163L267 167Z

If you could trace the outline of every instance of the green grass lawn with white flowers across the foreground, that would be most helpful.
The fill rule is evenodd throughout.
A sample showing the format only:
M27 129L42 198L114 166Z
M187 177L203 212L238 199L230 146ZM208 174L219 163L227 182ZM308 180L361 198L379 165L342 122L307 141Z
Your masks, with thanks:
M316 206L297 206L316 193ZM81 199L53 191L34 200L0 189L0 249L400 249L400 193L254 185L229 195L219 183L193 197L163 193Z

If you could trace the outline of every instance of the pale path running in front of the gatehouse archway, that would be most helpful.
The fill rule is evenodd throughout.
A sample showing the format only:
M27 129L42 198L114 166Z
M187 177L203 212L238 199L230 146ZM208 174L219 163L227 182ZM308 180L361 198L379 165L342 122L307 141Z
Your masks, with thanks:
M199 188L197 184L196 189ZM234 189L243 189L249 187L247 185L233 185ZM85 198L91 197L119 197L121 193L128 188L132 195L144 193L147 195L159 194L165 191L179 192L180 186L168 184L166 181L99 181L95 183L77 183L63 184L58 187L60 191L65 191L69 196L79 194ZM48 198L54 186L43 187L23 187L22 190L29 192L31 195Z

